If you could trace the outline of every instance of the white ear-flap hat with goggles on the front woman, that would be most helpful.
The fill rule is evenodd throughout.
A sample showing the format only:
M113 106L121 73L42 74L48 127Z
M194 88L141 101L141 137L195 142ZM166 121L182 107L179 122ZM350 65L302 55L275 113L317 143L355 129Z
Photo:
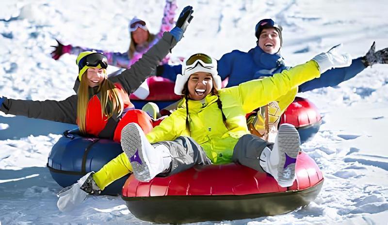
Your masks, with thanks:
M190 75L196 72L210 73L214 80L214 87L219 90L221 89L221 77L217 72L217 60L210 56L197 53L190 56L182 65L182 74L177 75L175 81L174 93L177 95L183 95L183 88L189 80Z

